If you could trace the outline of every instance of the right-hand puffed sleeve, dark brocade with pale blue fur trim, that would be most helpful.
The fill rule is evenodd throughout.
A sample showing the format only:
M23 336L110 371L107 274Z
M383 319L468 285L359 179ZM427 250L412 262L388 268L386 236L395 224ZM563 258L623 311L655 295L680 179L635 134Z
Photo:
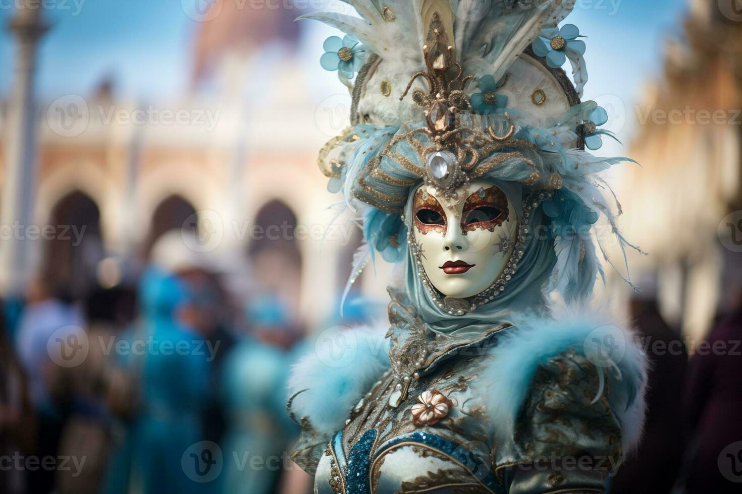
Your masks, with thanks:
M510 494L602 493L639 441L646 358L615 324L522 324L493 350L487 381L493 469Z

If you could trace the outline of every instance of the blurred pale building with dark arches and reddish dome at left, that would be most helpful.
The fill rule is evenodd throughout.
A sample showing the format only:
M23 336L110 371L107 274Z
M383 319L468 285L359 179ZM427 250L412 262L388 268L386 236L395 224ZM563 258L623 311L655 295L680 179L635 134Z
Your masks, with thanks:
M297 28L284 19L296 15L236 10L197 24L191 91L169 101L122 99L115 80L35 101L33 214L15 230L5 221L0 249L39 239L27 242L22 271L82 296L102 274L115 283L137 273L166 230L195 228L194 250L237 290L270 290L310 324L332 313L357 238L327 210L337 199L315 163L329 136L311 124L320 110L297 84L306 78L295 63ZM256 26L260 36L245 34ZM0 101L7 191L13 96Z

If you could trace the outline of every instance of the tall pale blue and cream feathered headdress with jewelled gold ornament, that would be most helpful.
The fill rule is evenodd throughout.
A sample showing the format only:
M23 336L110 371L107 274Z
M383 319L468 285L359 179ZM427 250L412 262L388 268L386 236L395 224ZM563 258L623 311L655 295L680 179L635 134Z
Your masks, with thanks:
M600 216L622 250L638 250L619 233L620 204L608 204L601 193L607 184L597 176L632 160L585 151L612 134L597 128L605 110L580 101L587 81L580 31L558 27L573 2L343 1L360 18L303 18L346 33L325 41L321 64L351 88L352 125L326 144L318 163L329 190L344 193L361 214L367 244L356 253L349 283L375 252L403 258L404 207L423 183L447 196L469 180L493 181L518 208L536 198L532 206L548 223L555 257L543 288L568 301L588 296L603 276L596 244L603 256L605 250L594 227ZM574 84L561 69L567 59ZM528 233L528 224L523 229ZM527 245L519 238L516 252Z

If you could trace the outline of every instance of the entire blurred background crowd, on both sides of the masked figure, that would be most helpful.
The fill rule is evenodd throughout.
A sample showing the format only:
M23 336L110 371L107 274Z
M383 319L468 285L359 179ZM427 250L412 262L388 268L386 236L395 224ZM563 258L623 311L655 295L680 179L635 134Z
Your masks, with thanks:
M165 233L135 285L70 300L37 279L4 301L1 492L312 492L286 414L305 328L272 293L234 303L183 246ZM723 455L742 441L742 290L708 341L689 344L649 285L630 307L652 363L648 421L609 492L729 492L742 477L742 453Z

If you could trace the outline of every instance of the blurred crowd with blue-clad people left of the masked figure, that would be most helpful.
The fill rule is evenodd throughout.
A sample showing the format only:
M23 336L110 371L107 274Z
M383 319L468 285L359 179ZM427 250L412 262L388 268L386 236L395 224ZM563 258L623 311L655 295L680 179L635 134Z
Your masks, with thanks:
M132 286L4 301L0 492L308 492L286 413L304 330L272 293L239 307L181 234Z

